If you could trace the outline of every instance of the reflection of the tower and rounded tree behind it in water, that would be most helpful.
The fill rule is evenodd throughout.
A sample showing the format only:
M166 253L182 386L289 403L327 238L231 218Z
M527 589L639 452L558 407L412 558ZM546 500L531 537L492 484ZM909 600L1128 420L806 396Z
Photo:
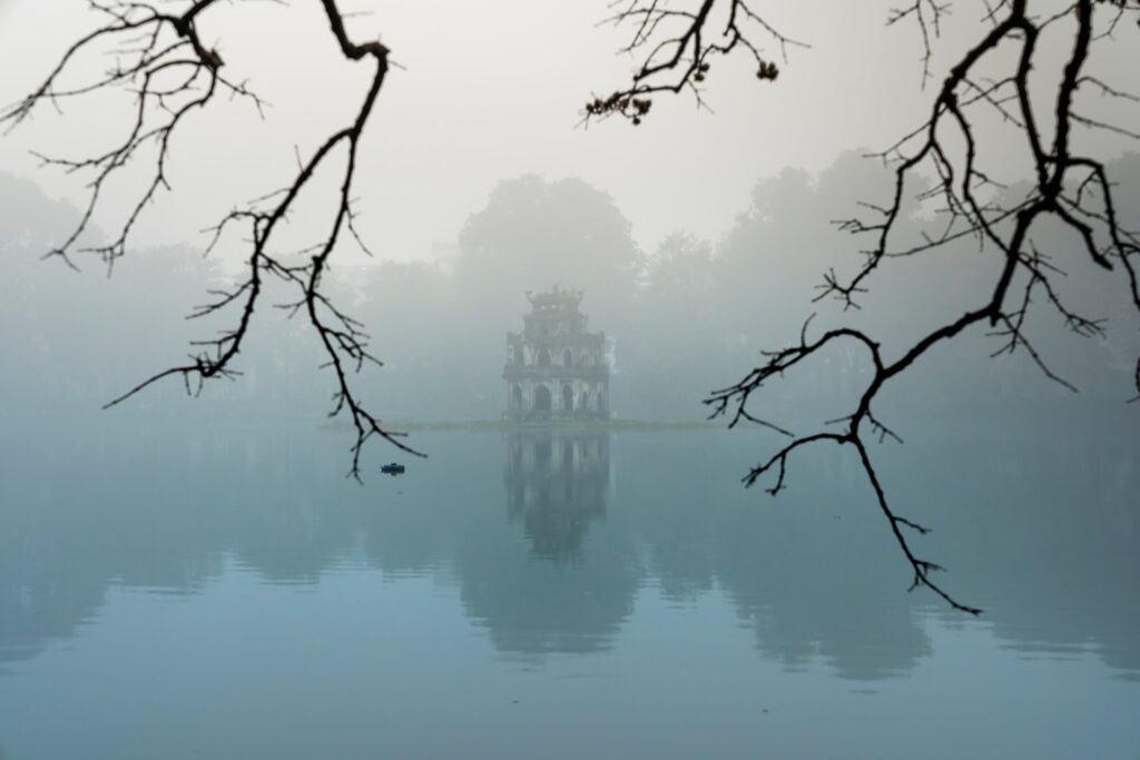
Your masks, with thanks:
M609 648L641 581L633 540L606 514L610 436L527 431L504 436L499 514L464 537L456 570L467 614L502 652ZM526 548L520 544L522 523ZM598 530L588 533L591 524Z

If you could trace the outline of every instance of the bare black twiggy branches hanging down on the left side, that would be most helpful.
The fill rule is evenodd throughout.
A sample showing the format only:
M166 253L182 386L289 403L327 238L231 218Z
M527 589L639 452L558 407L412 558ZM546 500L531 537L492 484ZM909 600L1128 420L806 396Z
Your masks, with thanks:
M72 255L82 234L88 229L98 205L103 188L112 175L142 148L157 148L154 172L137 203L119 228L119 234L106 245L80 248L93 252L112 267L127 252L128 240L144 209L155 198L160 189L169 189L166 161L170 144L185 116L195 109L212 105L220 93L228 93L250 100L259 109L262 101L245 84L226 79L221 71L223 60L217 50L206 47L198 35L196 22L218 0L196 0L182 3L184 10L173 14L164 10L173 3L132 2L127 0L90 0L90 7L105 15L107 22L90 34L81 38L63 55L57 66L32 93L2 114L0 122L16 126L24 122L41 104L58 105L71 98L119 88L133 92L136 99L135 119L123 139L111 150L100 155L79 160L48 158L43 161L70 172L89 174L90 191L80 222L71 236L48 255L59 256L74 267ZM285 188L262 196L244 207L235 209L213 229L207 251L213 250L223 232L231 226L249 230L249 251L245 254L245 276L231 288L211 292L213 300L194 309L189 318L207 314L236 312L236 324L223 330L219 337L195 342L198 346L187 363L168 368L142 381L122 395L111 400L105 408L116 406L147 386L171 376L181 376L187 391L198 393L205 381L233 378L238 373L234 365L245 345L256 307L263 299L264 277L272 276L298 289L298 300L291 304L292 313L304 313L324 349L326 363L335 376L329 416L345 414L356 430L356 441L351 448L349 474L359 479L360 452L373 436L409 453L417 453L400 439L401 433L386 430L357 397L349 375L359 371L366 362L381 362L368 352L368 335L361 325L341 311L321 292L321 279L328 269L329 256L341 242L343 230L360 243L353 227L351 211L352 182L356 177L357 156L364 129L372 115L376 98L388 74L388 48L376 41L353 42L344 26L344 16L335 0L320 0L333 38L349 60L367 60L373 75L364 93L360 107L352 122L333 132L307 160L299 157L296 174ZM116 63L112 70L93 82L73 89L60 89L58 82L68 64L78 54L99 44L119 46ZM337 155L343 155L340 169L341 183L335 196L325 239L306 252L307 261L286 264L279 254L272 252L275 234L293 210L299 194L318 169L332 165Z

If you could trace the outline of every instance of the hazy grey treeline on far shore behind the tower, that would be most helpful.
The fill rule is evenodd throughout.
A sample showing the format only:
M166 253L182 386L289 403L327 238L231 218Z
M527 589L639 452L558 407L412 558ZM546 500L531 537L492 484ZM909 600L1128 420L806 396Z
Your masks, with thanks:
M1121 183L1121 212L1137 214L1140 157L1110 164ZM529 311L528 291L554 285L585 292L589 328L611 342L613 414L644 420L697 420L708 392L734 382L771 350L811 329L849 324L897 354L923 330L986 297L997 261L972 242L896 260L873 281L864 309L844 312L813 303L829 268L853 269L853 238L840 218L865 197L880 197L889 175L857 152L819 174L788 167L758 178L739 199L734 223L712 239L677 231L643 251L612 196L578 178L527 174L500 181L470 211L454 251L437 261L380 261L333 268L329 293L373 336L384 362L355 378L364 398L400 420L495 419L504 408L505 334ZM68 231L79 212L51 201L31 180L0 178L6 279L18 284L2 303L5 353L18 367L3 375L13 408L95 409L139 379L177 363L189 341L211 337L226 317L185 316L230 277L217 258L187 245L144 248L107 277L98 265L74 272L40 254ZM915 207L907 234L936 221ZM98 236L99 232L93 232ZM1058 263L1081 267L1072 235L1047 230L1039 245ZM1065 252L1070 252L1067 256ZM1106 318L1107 337L1082 338L1041 310L1028 334L1075 397L1049 381L1028 354L988 354L1001 342L967 334L901 378L886 397L906 414L986 408L1036 415L1060 404L1099 414L1129 398L1137 333L1123 281L1083 268L1064 283L1073 308ZM277 302L287 300L283 289ZM128 404L164 414L307 414L319 418L333 378L301 319L261 317L243 376L209 383L187 404L176 379ZM852 349L805 367L763 397L784 419L841 411L865 386L869 358ZM215 404L222 404L215 408ZM123 414L119 409L107 414Z

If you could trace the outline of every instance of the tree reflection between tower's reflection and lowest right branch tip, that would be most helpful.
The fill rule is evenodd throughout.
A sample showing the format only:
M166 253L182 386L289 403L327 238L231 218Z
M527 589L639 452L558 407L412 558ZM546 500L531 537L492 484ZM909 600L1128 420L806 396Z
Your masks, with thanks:
M675 475L624 481L636 491L622 501L640 509L663 591L685 599L719 588L763 656L789 670L823 661L852 679L903 675L931 654L920 599L901 593L897 549L856 469L833 453L807 452L772 499L701 476L724 472L725 448L636 448L622 472Z

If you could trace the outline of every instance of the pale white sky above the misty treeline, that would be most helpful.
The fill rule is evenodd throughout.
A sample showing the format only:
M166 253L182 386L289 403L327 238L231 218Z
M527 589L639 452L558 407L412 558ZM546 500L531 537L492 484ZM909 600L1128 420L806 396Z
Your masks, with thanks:
M0 0L0 103L32 89L91 27L85 5ZM812 44L791 50L776 82L758 82L740 57L712 72L715 115L697 112L687 96L658 98L640 128L614 120L585 130L581 104L625 83L633 67L614 55L624 33L597 26L608 0L342 0L345 11L372 11L353 19L353 36L378 34L406 67L391 73L369 126L360 227L383 259L430 258L499 180L537 172L578 175L610 193L646 252L675 230L716 240L762 177L787 165L823 169L845 149L885 147L918 123L930 99L919 89L920 38L912 25L885 27L894 5L755 0L783 32ZM959 52L980 13L980 2L956 3L939 49ZM241 106L195 115L176 145L176 193L149 212L138 244L202 239L195 231L234 203L283 185L294 145L307 155L347 123L366 85L365 65L341 58L315 0L220 6L203 18L203 33L219 44L229 76L247 77L272 107L264 122ZM1129 47L1115 46L1113 71L1140 71L1140 46ZM101 66L88 58L75 71ZM0 169L78 202L81 181L38 169L28 150L78 156L108 145L129 117L125 101L68 107L63 116L42 109L0 138ZM113 227L114 203L125 198L116 188L98 221Z

